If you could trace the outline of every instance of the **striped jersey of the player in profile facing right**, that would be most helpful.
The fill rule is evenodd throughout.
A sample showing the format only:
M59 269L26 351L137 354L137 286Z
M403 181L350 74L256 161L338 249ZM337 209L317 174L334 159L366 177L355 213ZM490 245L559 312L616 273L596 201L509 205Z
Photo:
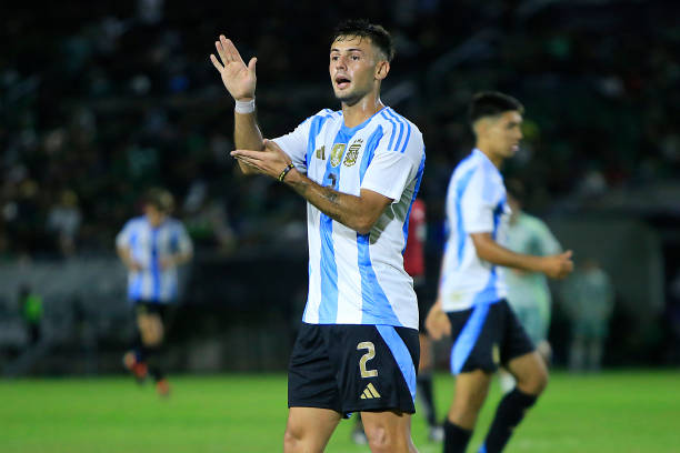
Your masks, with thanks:
M453 171L447 192L449 236L440 281L444 311L507 296L502 268L480 260L470 233L491 233L502 242L509 215L503 178L483 152L472 150Z

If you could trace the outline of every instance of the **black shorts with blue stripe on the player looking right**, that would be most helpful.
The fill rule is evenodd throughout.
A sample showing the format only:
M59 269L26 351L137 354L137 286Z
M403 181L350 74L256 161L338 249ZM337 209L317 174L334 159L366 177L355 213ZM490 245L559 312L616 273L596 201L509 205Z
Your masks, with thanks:
M504 299L447 314L454 339L452 374L474 370L493 373L499 364L507 364L536 349Z

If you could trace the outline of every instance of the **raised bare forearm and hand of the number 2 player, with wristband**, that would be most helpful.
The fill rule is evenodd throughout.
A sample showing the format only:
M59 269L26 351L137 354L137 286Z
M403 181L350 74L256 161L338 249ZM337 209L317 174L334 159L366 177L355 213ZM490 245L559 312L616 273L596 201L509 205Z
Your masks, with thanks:
M253 102L256 93L256 63L257 58L251 58L248 66L243 62L241 54L231 40L220 34L220 40L214 42L219 59L210 54L210 61L220 72L224 88L237 102ZM254 110L248 113L233 113L233 141L238 149L262 150L262 132L257 122ZM246 174L257 173L249 165L239 161L241 171Z

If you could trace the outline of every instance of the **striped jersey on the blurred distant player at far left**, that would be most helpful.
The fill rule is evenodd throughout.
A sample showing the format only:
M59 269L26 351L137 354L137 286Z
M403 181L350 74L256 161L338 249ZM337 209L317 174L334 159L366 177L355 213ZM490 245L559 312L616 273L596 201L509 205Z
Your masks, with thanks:
M128 273L128 298L132 301L168 303L177 299L177 268L162 269L161 260L193 250L182 223L167 218L158 228L144 215L131 219L116 236L118 248L128 248L142 270Z

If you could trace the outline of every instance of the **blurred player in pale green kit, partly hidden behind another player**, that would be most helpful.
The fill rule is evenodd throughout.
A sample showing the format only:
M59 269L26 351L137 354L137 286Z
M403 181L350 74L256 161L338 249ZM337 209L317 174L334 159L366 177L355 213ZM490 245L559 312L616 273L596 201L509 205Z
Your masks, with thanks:
M506 182L508 204L512 210L508 222L504 245L513 252L546 256L562 252L548 225L533 215L522 211L524 185L519 180ZM551 348L548 342L552 300L548 279L542 272L528 272L520 269L504 270L508 285L508 303L536 345L546 364L550 363ZM509 392L514 387L514 379L509 372L500 372L501 387Z

